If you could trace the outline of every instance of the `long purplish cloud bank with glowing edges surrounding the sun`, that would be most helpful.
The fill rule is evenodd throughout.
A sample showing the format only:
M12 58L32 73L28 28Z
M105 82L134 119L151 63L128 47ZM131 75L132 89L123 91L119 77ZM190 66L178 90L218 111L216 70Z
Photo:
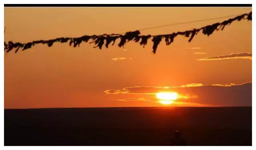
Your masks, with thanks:
M212 106L252 106L252 83L241 84L213 84L203 85L191 83L178 87L135 86L121 90L106 90L106 94L122 94L126 99L122 101L158 101L156 93L176 92L178 99L175 102L207 104ZM140 98L130 99L132 95L143 95ZM130 95L130 96L128 96ZM199 105L198 105L199 106Z

